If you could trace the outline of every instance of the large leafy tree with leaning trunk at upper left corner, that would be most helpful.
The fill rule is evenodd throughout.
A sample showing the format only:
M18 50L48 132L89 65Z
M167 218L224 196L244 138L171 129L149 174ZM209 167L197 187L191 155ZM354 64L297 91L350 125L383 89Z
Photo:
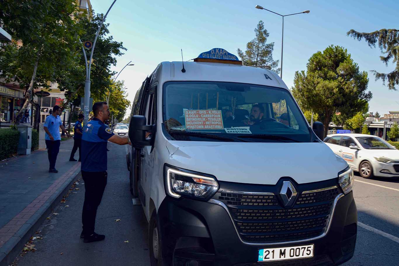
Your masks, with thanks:
M76 23L79 18L74 0L3 0L0 2L0 21L13 40L22 42L4 47L12 58L0 57L0 77L15 81L26 88L24 105L14 122L24 112L37 87L48 87L73 64L80 46L77 36L83 30Z

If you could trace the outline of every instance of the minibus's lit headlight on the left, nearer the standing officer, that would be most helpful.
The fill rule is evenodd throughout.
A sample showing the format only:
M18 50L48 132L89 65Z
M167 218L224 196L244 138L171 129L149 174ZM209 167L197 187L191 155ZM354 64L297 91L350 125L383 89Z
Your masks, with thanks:
M165 165L165 191L174 198L181 196L199 200L209 200L219 189L215 177L176 169Z

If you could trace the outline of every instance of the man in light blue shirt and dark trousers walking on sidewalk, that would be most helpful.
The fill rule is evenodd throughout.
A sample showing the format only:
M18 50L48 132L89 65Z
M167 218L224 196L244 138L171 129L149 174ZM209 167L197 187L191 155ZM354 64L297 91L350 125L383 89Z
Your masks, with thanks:
M49 173L58 173L57 169L55 169L55 161L57 161L57 155L59 152L59 145L61 143L61 135L59 135L59 128L61 127L62 131L65 132L67 137L71 137L69 133L65 130L64 126L61 123L61 107L55 105L53 107L53 113L46 117L44 122L44 131L46 132L45 141L47 147L47 153L49 158Z

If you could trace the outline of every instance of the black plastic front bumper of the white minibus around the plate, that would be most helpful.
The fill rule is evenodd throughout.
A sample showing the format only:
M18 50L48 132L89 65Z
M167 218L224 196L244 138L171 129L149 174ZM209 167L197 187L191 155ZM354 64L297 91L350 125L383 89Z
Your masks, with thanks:
M267 265L339 265L352 258L356 244L357 210L352 192L336 201L328 232L322 237L285 244L243 241L229 211L213 200L166 197L157 213L166 265L263 265L257 261L260 249L308 244L314 244L313 258Z

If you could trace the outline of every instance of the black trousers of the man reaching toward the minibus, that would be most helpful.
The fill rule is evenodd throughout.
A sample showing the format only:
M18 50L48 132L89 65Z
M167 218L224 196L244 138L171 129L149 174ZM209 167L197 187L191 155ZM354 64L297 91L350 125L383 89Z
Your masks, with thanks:
M84 234L93 234L96 221L97 208L103 198L107 185L107 171L86 172L82 171L85 181L85 202L82 210L82 224Z

